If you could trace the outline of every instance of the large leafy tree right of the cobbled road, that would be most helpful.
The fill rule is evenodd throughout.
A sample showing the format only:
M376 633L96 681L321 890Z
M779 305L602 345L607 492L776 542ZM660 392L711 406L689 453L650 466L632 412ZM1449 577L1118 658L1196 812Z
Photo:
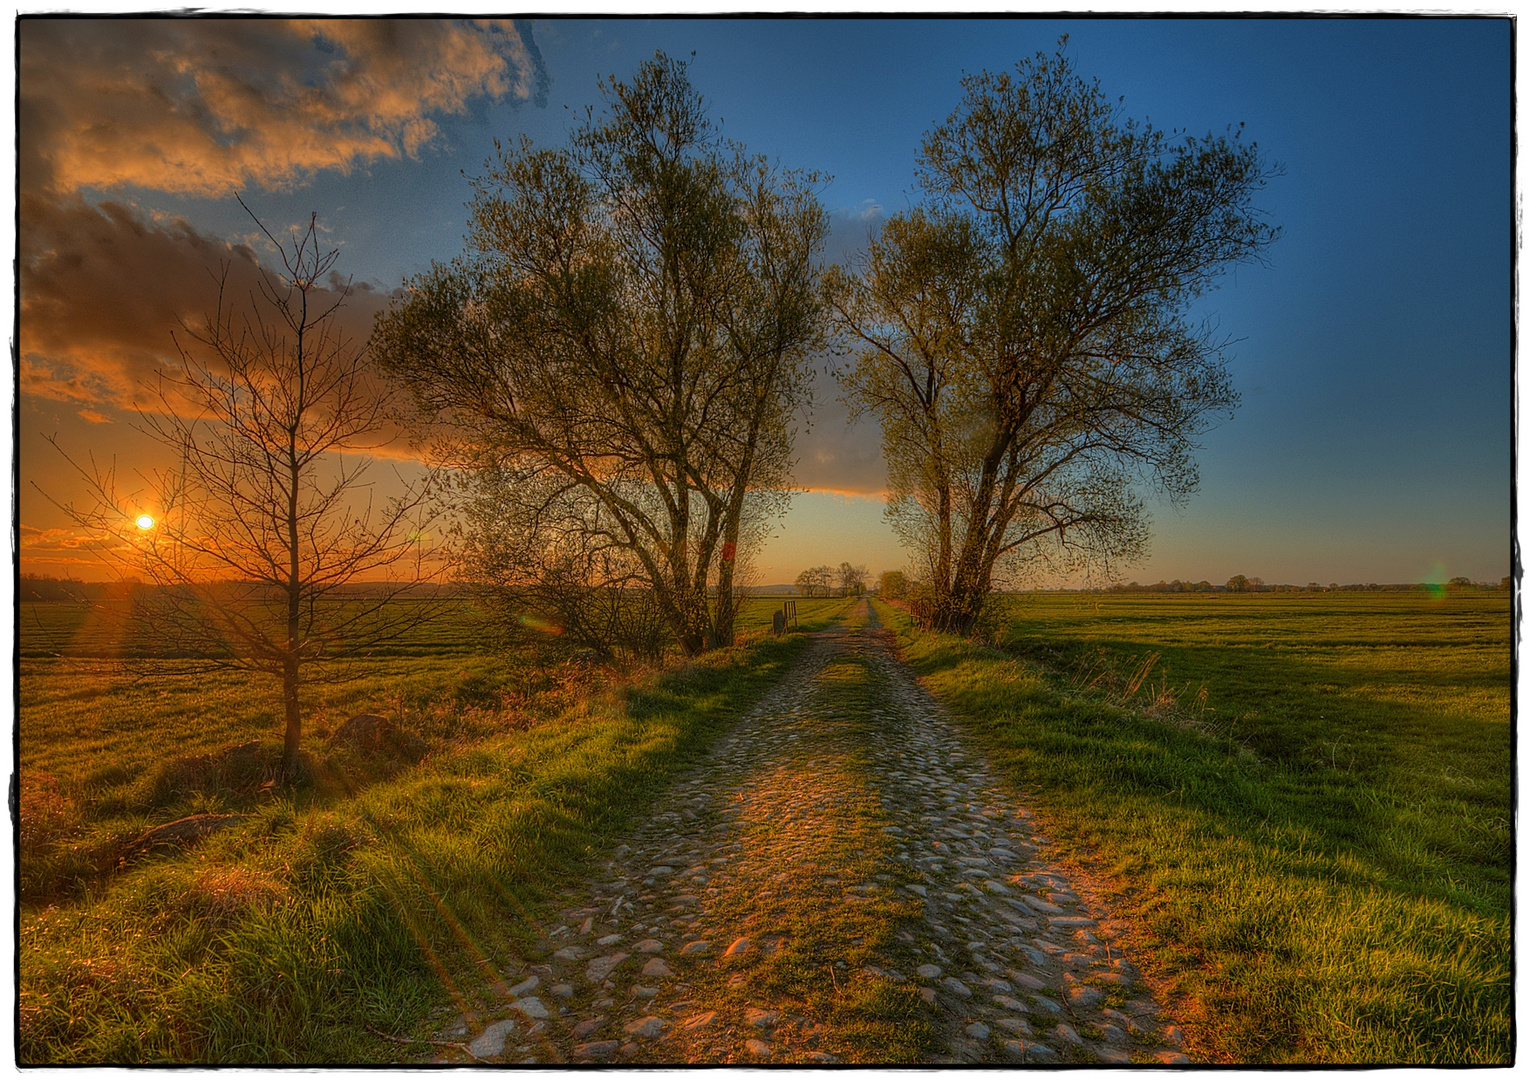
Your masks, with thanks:
M826 281L842 387L881 422L889 517L950 630L1005 566L1140 555L1143 482L1195 490L1195 439L1236 393L1189 306L1274 239L1253 144L1123 119L1062 47L962 89L921 203Z

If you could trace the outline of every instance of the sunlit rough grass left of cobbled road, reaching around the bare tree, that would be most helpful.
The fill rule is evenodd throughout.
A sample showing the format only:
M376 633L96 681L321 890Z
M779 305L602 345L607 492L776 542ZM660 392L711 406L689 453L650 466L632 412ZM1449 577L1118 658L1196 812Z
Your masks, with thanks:
M803 604L805 629L842 606ZM751 606L745 629L768 626L770 610ZM326 782L295 792L185 783L200 774L167 769L170 754L274 745L259 682L24 665L21 878L40 884L20 916L18 1060L387 1060L393 1048L369 1028L412 1033L445 1000L467 1007L497 978L490 958L523 944L523 916L583 872L800 642L757 638L604 688L551 685L540 713L517 698L532 681L514 659L395 662L312 701L337 717L392 711L428 757L381 768L321 750ZM558 668L545 675L555 682ZM106 877L78 861L197 809L245 817Z

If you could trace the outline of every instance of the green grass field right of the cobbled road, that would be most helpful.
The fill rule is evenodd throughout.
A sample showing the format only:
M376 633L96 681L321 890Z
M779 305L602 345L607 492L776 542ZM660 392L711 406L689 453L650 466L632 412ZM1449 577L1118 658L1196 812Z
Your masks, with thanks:
M1008 604L1002 650L887 618L1103 872L1192 1051L1510 1060L1507 598Z

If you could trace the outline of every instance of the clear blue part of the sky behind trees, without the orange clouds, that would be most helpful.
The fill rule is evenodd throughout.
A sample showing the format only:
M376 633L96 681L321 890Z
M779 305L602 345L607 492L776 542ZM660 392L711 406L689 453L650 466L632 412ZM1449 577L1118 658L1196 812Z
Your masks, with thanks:
M26 66L29 29L23 101L29 84L43 84ZM1198 135L1242 122L1284 165L1261 199L1284 229L1268 266L1239 268L1196 312L1238 340L1230 356L1242 407L1204 439L1200 494L1183 511L1154 509L1154 554L1125 577L1496 581L1510 571L1507 20L643 18L536 20L525 31L534 52L517 52L522 96L468 93L461 115L427 113L436 136L415 156L358 155L344 171L318 165L288 177L257 170L242 185L246 200L268 222L318 211L350 274L396 288L461 251L464 173L482 170L493 138L558 142L571 110L598 101L600 75L627 78L656 49L695 50L693 83L728 136L834 177L822 197L845 251L878 216L918 200L920 139L958 104L962 72L1010 67L1066 34L1079 70L1123 96L1126 115ZM70 32L63 28L64 44L80 52ZM407 54L409 34L390 47ZM272 57L280 63L295 61ZM93 107L83 101L80 115ZM66 130L29 118L23 107L23 197L29 155L63 145ZM55 208L116 200L151 228L181 217L200 237L249 233L217 191L187 193L151 170L81 173L69 188L52 168L52 187L35 187ZM262 187L272 176L282 190ZM26 281L23 271L23 323ZM23 372L67 347L23 347L32 358ZM103 445L127 438L121 395L87 401L63 385L23 379L23 471L41 460L29 447L44 430ZM874 494L875 430L846 428L829 401L800 451L799 480L817 491L799 496L760 554L762 580L842 560L874 574L900 566L906 557ZM29 522L57 525L23 490Z

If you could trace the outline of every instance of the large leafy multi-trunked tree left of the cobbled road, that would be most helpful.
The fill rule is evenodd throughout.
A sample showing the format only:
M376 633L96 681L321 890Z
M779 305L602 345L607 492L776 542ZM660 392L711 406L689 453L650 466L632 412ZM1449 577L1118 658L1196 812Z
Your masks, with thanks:
M499 148L465 254L376 338L456 460L519 500L497 522L528 574L614 566L693 655L733 642L739 545L788 482L828 219L815 176L721 138L684 64L604 98L566 148Z

